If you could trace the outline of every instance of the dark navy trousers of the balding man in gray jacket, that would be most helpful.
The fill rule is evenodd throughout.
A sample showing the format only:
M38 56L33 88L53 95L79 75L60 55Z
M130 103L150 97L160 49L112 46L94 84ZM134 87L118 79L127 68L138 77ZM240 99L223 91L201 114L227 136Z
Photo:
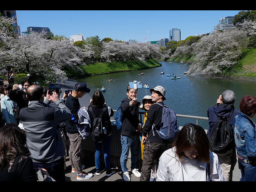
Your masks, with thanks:
M51 163L33 163L34 168L44 168L56 181L66 181L64 170L64 158L60 158Z

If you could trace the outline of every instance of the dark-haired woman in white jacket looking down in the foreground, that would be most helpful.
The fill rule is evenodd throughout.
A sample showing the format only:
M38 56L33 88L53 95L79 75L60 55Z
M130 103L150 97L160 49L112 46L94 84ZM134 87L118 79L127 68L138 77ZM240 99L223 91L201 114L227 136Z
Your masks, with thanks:
M187 124L159 160L157 181L224 181L218 156L209 151L205 130Z

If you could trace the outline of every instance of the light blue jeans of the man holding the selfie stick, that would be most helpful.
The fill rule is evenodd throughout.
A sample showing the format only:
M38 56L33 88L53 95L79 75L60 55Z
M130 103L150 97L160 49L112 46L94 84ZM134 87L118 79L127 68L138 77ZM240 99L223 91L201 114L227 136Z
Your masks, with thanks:
M127 137L121 135L121 144L122 154L120 157L120 164L122 171L128 171L126 163L129 155L129 150L131 150L131 170L133 170L137 166L138 136Z

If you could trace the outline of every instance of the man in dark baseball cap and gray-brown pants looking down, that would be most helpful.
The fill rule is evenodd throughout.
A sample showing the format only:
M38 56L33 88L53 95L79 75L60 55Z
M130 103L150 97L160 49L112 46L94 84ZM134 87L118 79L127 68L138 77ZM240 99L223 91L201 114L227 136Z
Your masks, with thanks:
M78 123L78 110L81 108L78 98L82 98L86 93L89 93L90 89L87 88L86 83L79 82L75 84L74 90L66 100L66 106L71 111L71 118L66 121L66 132L70 141L69 158L72 166L72 173L77 173L77 180L89 179L92 177L91 173L83 172L81 156L82 149L81 144L83 141L82 136L76 128Z

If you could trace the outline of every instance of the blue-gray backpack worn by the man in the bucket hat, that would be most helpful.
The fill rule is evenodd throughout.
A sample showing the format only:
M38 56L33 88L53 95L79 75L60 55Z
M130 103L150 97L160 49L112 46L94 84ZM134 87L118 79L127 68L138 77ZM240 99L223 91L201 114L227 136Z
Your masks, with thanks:
M160 103L154 103L162 106L162 120L160 125L160 130L158 131L156 129L156 126L153 124L152 131L153 136L154 134L154 128L156 132L158 133L158 136L165 141L173 141L176 137L176 134L178 132L177 127L177 116L173 110L171 110L168 106L163 106Z

